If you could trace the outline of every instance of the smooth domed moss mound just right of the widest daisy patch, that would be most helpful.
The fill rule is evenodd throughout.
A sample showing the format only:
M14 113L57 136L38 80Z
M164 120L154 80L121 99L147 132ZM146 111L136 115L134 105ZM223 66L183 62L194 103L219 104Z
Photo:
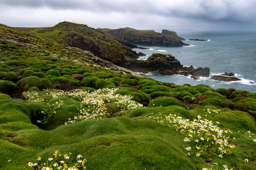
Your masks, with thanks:
M187 106L183 102L181 102L180 100L175 99L173 97L156 98L148 104L148 108L166 107L166 106L170 106L170 105L176 105L176 106L180 106L182 108L188 109Z

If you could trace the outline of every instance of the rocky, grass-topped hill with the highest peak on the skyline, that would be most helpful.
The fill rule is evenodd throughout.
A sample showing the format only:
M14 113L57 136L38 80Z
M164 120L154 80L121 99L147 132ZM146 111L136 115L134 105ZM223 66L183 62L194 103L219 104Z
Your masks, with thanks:
M90 51L95 56L114 64L125 62L127 59L138 58L138 54L131 48L114 40L104 32L84 24L62 22L51 28L24 31L29 31L60 44Z

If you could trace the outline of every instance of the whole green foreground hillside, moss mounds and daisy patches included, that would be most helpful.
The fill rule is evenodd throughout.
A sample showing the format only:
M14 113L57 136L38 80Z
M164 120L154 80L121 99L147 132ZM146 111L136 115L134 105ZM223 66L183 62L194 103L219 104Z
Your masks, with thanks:
M255 93L157 82L38 29L0 25L0 169L256 169Z

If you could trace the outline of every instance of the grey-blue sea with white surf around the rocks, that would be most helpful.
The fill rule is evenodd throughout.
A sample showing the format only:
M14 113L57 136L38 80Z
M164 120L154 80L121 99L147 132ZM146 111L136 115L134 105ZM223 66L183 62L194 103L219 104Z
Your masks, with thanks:
M182 75L162 75L157 73L142 74L161 82L172 82L176 85L189 83L190 85L205 84L212 88L235 88L256 92L256 32L230 32L230 31L180 31L177 32L189 46L168 47L138 45L149 50L134 49L147 54L140 59L146 59L153 53L172 54L184 66L193 65L209 67L210 77L225 72L235 73L241 81L222 82L200 77L199 80ZM204 39L207 41L191 41L189 39Z

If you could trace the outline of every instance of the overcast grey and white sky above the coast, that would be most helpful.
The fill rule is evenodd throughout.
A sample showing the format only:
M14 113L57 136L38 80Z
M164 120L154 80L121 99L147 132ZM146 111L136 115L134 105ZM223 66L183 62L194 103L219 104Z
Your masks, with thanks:
M0 0L0 16L15 27L256 31L256 0Z

